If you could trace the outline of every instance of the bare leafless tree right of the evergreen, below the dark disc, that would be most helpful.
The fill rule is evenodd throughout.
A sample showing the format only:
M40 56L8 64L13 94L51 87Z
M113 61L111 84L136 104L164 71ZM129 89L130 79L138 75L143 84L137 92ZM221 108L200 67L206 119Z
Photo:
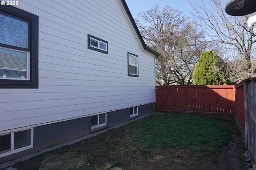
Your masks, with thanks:
M248 16L229 16L224 8L227 0L189 1L200 26L207 30L208 42L216 45L212 50L226 61L226 77L232 82L240 82L256 76L254 56L256 38L247 26Z

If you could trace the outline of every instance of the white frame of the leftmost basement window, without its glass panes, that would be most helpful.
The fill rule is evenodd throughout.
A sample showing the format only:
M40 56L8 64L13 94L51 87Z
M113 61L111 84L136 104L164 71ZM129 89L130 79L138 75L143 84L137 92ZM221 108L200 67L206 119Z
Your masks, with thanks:
M31 129L31 145L28 145L26 147L22 147L22 148L19 148L19 149L15 149L15 150L14 150L14 133L19 132L19 131L26 131L26 130L29 130L29 129L22 129L22 130L19 130L19 131L12 131L12 132L9 132L9 133L0 134L1 136L6 135L6 134L11 134L11 150L8 151L8 152L1 153L0 158L4 157L4 156L8 156L10 154L21 152L23 150L33 148L33 146L34 146L34 129L33 128L30 128L30 129Z

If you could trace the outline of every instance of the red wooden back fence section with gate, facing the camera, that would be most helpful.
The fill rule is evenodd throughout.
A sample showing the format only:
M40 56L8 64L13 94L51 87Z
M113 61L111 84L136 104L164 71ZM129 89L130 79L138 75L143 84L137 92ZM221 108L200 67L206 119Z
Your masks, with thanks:
M156 86L156 111L234 115L233 85Z

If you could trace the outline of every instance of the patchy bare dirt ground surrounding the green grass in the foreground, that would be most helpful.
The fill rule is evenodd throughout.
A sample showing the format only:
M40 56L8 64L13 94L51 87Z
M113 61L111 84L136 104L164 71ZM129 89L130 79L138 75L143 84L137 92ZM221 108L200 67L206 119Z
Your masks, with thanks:
M247 170L240 135L234 126L222 124L232 132L230 141L220 152L209 156L196 155L180 147L166 148L164 152L138 148L136 143L131 143L138 138L138 133L131 133L132 127L126 124L114 131L18 162L12 167L18 170L37 170L40 166L40 170L46 167L56 170L96 170L111 164L122 170ZM61 155L66 156L63 158ZM69 160L72 160L72 164L68 163Z

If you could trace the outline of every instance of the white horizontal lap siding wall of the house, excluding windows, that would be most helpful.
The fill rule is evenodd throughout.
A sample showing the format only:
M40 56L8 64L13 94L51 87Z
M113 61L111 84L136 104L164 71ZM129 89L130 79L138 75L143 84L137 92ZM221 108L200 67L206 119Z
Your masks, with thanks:
M39 88L0 89L0 133L154 102L154 56L119 3L19 0L39 16ZM108 41L108 54L88 49L87 34ZM128 52L139 77L127 75Z

